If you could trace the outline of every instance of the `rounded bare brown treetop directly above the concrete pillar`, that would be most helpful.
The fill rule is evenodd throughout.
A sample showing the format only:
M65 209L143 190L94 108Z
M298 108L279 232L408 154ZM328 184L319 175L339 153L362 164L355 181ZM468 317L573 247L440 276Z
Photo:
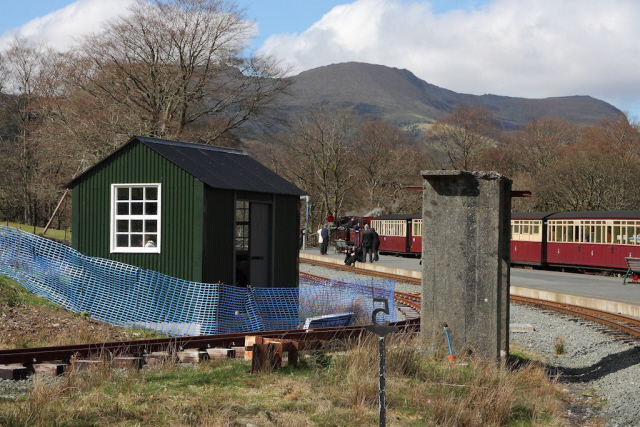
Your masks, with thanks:
M448 167L470 170L479 153L496 145L498 131L488 109L461 105L431 127L428 142L446 155Z

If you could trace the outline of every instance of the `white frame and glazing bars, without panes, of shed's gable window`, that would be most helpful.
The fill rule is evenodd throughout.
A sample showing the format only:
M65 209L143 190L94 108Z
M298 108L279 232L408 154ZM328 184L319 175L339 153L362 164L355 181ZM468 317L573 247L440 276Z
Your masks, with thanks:
M128 203L142 203L143 204L143 209L142 209L142 213L141 214L132 214L131 213L131 205L129 206L129 210L127 214L118 214L118 210L117 210L117 203L118 203L118 190L122 189L122 188L128 188L129 191L131 191L132 188L143 188L145 191L143 192L145 194L145 196L143 196L143 198L141 200L136 200L135 202L132 201L131 196L128 200ZM156 188L157 189L157 200L153 200L153 202L157 203L157 209L156 209L156 214L146 214L145 213L145 203L148 202L148 200L146 199L146 189L147 188ZM122 203L123 201L120 201L120 203ZM161 215L160 213L162 212L162 186L160 183L131 183L131 184L111 184L111 213L110 213L110 218L111 218L111 230L110 230L110 244L111 244L111 253L160 253L160 247L161 247L161 233L160 230L161 228ZM129 223L129 227L127 231L118 231L118 221L133 221L133 220L138 220L138 221L142 221L143 223L143 229L139 232L136 231L132 231L131 230L131 224ZM156 221L156 231L153 233L148 232L147 230L145 230L144 225L146 224L146 221ZM141 247L132 247L132 246L117 246L117 242L118 242L118 237L122 236L129 236L129 238L134 235L141 235L142 237L142 242L145 241L145 238L147 235L149 234L153 234L156 237L156 240L154 241L155 246L154 247L146 247L144 246L144 244ZM131 240L129 239L129 244L131 244Z

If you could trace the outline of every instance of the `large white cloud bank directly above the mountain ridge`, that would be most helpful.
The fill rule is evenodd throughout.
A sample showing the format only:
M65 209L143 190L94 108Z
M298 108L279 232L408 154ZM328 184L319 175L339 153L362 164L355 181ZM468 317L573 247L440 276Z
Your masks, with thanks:
M356 0L260 51L297 72L360 61L406 68L457 92L591 95L640 109L640 2L495 0L434 14L427 1Z

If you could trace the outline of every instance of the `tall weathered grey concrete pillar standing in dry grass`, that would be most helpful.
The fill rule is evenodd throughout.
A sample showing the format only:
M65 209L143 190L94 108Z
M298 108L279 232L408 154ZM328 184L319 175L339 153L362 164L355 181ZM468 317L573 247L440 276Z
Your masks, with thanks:
M511 180L453 170L423 171L422 177L421 338L446 345L446 323L456 355L504 357Z

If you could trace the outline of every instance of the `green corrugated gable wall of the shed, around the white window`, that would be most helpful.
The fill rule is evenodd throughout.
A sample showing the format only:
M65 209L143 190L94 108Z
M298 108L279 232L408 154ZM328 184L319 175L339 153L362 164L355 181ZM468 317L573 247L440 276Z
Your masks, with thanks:
M161 253L111 253L111 184L161 183ZM98 164L73 189L73 242L81 253L202 281L204 184L140 143ZM185 239L185 236L190 238Z

